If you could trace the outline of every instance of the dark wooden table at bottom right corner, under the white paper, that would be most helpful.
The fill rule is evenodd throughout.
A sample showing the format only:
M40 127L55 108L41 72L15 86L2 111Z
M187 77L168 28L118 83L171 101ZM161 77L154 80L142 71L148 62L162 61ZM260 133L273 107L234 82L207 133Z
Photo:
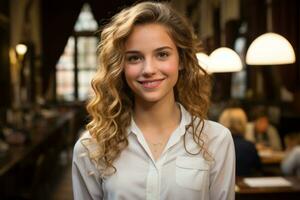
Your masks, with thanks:
M300 178L284 177L292 186L287 187L250 187L243 177L236 181L236 200L296 200L300 197Z

